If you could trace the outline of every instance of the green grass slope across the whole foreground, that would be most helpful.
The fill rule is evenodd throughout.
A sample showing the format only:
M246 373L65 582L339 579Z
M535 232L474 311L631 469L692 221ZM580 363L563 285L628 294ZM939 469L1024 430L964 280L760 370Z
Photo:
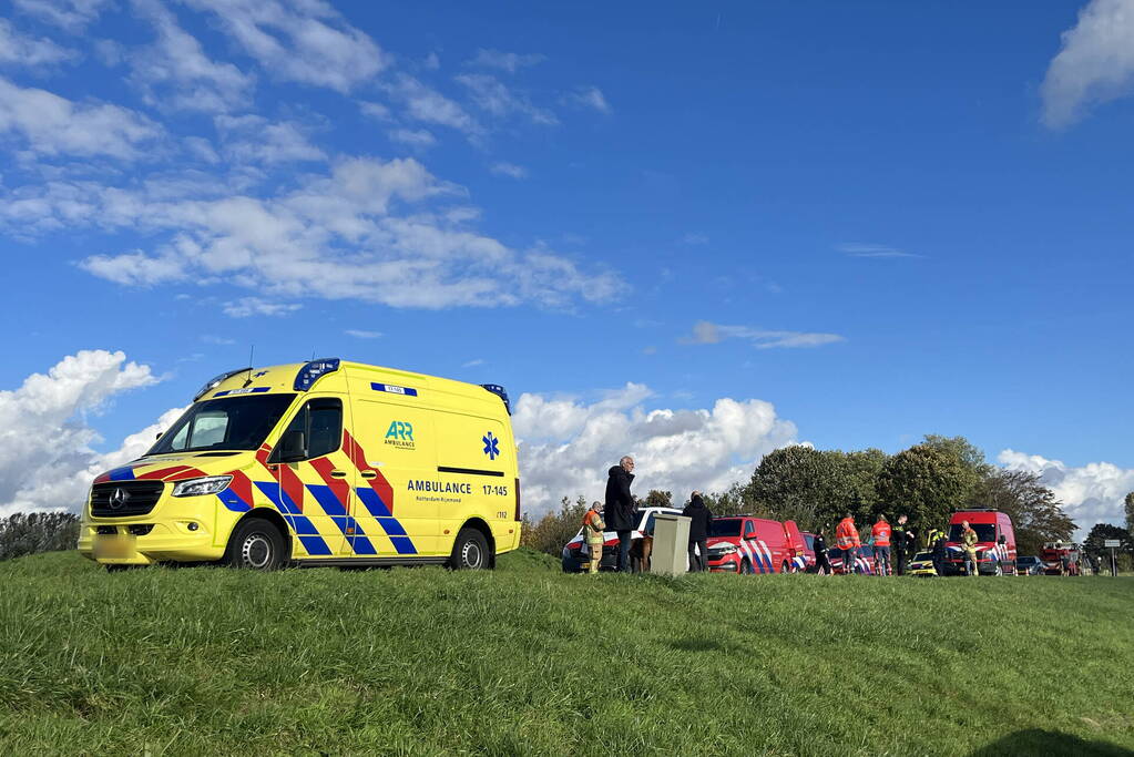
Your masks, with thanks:
M1129 754L1134 579L0 563L2 754Z

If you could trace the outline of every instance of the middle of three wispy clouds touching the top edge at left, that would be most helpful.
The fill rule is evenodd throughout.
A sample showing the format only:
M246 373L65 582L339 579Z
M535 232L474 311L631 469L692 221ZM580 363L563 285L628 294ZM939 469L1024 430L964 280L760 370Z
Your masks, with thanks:
M134 0L158 40L133 56L133 80L142 86L149 104L180 110L226 112L248 104L254 78L232 63L213 62L196 37L177 24L177 17L156 0Z

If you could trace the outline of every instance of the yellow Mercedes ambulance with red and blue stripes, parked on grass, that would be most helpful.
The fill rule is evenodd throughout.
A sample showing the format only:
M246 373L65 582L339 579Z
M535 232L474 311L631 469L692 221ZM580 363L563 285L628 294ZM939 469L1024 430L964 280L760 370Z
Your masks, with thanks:
M492 568L519 545L509 415L494 384L338 358L230 371L94 479L78 548L112 569Z

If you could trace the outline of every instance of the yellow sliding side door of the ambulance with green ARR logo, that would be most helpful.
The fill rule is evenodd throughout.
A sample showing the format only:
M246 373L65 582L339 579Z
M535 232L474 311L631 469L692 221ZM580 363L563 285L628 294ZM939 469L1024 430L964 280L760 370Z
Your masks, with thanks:
M354 402L353 516L378 556L437 554L437 440L433 411L416 395Z

